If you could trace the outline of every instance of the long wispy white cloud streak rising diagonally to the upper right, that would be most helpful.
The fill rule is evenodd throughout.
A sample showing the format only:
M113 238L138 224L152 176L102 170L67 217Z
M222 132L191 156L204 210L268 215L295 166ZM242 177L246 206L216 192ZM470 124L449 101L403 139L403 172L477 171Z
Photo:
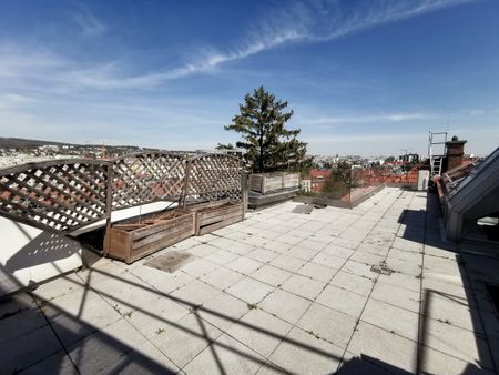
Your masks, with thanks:
M133 77L121 84L159 84L169 79L206 72L223 63L245 59L284 44L332 41L379 24L471 1L476 0L367 1L364 7L356 7L355 11L348 9L350 7L348 1L286 2L279 8L267 9L267 14L252 27L245 40L240 43L242 47L223 52L213 51L180 68Z

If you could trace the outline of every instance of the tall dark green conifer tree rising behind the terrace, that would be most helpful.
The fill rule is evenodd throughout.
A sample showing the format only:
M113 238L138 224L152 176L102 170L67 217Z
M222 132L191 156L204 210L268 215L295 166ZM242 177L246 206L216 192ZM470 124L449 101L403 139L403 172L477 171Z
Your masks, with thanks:
M276 100L264 87L246 94L244 104L240 104L240 114L225 130L241 134L237 148L244 149L247 161L253 163L254 172L271 172L299 165L309 160L306 156L306 143L299 141L301 130L288 130L286 122L293 111L285 112L286 101Z

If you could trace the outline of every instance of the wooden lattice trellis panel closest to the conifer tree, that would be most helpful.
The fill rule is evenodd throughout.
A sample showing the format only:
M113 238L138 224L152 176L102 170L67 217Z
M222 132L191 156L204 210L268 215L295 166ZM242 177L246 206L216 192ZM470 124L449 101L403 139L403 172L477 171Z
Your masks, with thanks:
M190 160L186 199L242 201L242 168L234 156L206 154Z

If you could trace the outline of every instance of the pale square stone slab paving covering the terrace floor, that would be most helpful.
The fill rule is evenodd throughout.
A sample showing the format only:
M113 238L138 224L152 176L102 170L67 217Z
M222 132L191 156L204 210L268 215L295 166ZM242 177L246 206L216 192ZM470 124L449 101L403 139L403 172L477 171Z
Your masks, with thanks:
M435 196L297 204L149 257L192 254L173 274L102 259L1 302L0 373L497 372L499 260L445 242Z

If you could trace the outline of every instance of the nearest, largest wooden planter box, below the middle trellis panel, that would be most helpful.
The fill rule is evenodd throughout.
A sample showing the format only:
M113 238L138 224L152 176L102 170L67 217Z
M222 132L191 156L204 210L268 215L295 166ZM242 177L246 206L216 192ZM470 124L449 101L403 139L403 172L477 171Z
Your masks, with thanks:
M194 225L194 213L182 210L123 221L105 233L104 254L130 264L192 236Z

